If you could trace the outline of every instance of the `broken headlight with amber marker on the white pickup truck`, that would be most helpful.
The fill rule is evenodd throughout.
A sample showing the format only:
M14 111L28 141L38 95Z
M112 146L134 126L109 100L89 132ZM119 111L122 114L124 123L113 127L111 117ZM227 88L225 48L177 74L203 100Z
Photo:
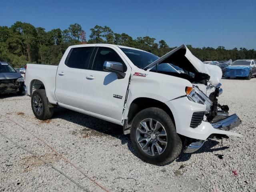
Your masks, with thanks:
M186 94L190 101L203 104L206 106L206 112L208 113L212 106L212 101L204 94L200 89L193 85L193 87L186 87Z

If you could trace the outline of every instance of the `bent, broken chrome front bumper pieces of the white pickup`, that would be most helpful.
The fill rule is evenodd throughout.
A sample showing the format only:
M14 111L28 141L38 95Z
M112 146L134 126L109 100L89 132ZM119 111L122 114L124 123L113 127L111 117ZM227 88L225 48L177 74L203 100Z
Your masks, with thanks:
M213 122L211 126L216 130L224 131L222 133L218 132L218 134L234 135L235 133L232 133L229 131L239 126L242 123L242 121L236 114L233 114L231 116L227 116L227 114L228 113L218 114L216 116L216 119L219 119L219 120L216 122ZM242 135L236 134L236 136L242 136ZM194 142L190 142L190 144L186 146L184 153L196 152L198 149L200 149L203 146L204 142L205 140L196 140Z

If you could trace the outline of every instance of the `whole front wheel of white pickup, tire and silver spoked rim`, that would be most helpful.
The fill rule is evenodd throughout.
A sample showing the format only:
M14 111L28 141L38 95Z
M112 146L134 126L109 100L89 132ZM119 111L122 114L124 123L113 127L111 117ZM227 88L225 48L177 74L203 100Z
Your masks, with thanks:
M172 162L182 150L172 119L160 108L140 111L132 121L130 136L138 156L151 164Z

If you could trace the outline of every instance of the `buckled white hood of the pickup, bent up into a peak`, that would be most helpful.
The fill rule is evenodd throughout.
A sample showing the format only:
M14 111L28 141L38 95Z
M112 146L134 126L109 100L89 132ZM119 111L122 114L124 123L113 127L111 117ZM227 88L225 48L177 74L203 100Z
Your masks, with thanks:
M196 58L184 44L160 57L146 68L149 69L161 63L174 64L183 70L199 74L198 76L202 74L202 77L205 77L205 74L207 74L210 76L209 82L215 86L222 78L222 70L218 66L204 64Z

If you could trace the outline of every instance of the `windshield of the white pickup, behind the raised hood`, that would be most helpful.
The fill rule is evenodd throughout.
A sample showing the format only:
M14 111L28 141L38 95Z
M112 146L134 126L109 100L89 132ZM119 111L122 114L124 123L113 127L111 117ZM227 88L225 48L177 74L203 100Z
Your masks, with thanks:
M132 61L138 68L145 68L159 57L148 52L138 51L128 48L120 48L124 54Z

